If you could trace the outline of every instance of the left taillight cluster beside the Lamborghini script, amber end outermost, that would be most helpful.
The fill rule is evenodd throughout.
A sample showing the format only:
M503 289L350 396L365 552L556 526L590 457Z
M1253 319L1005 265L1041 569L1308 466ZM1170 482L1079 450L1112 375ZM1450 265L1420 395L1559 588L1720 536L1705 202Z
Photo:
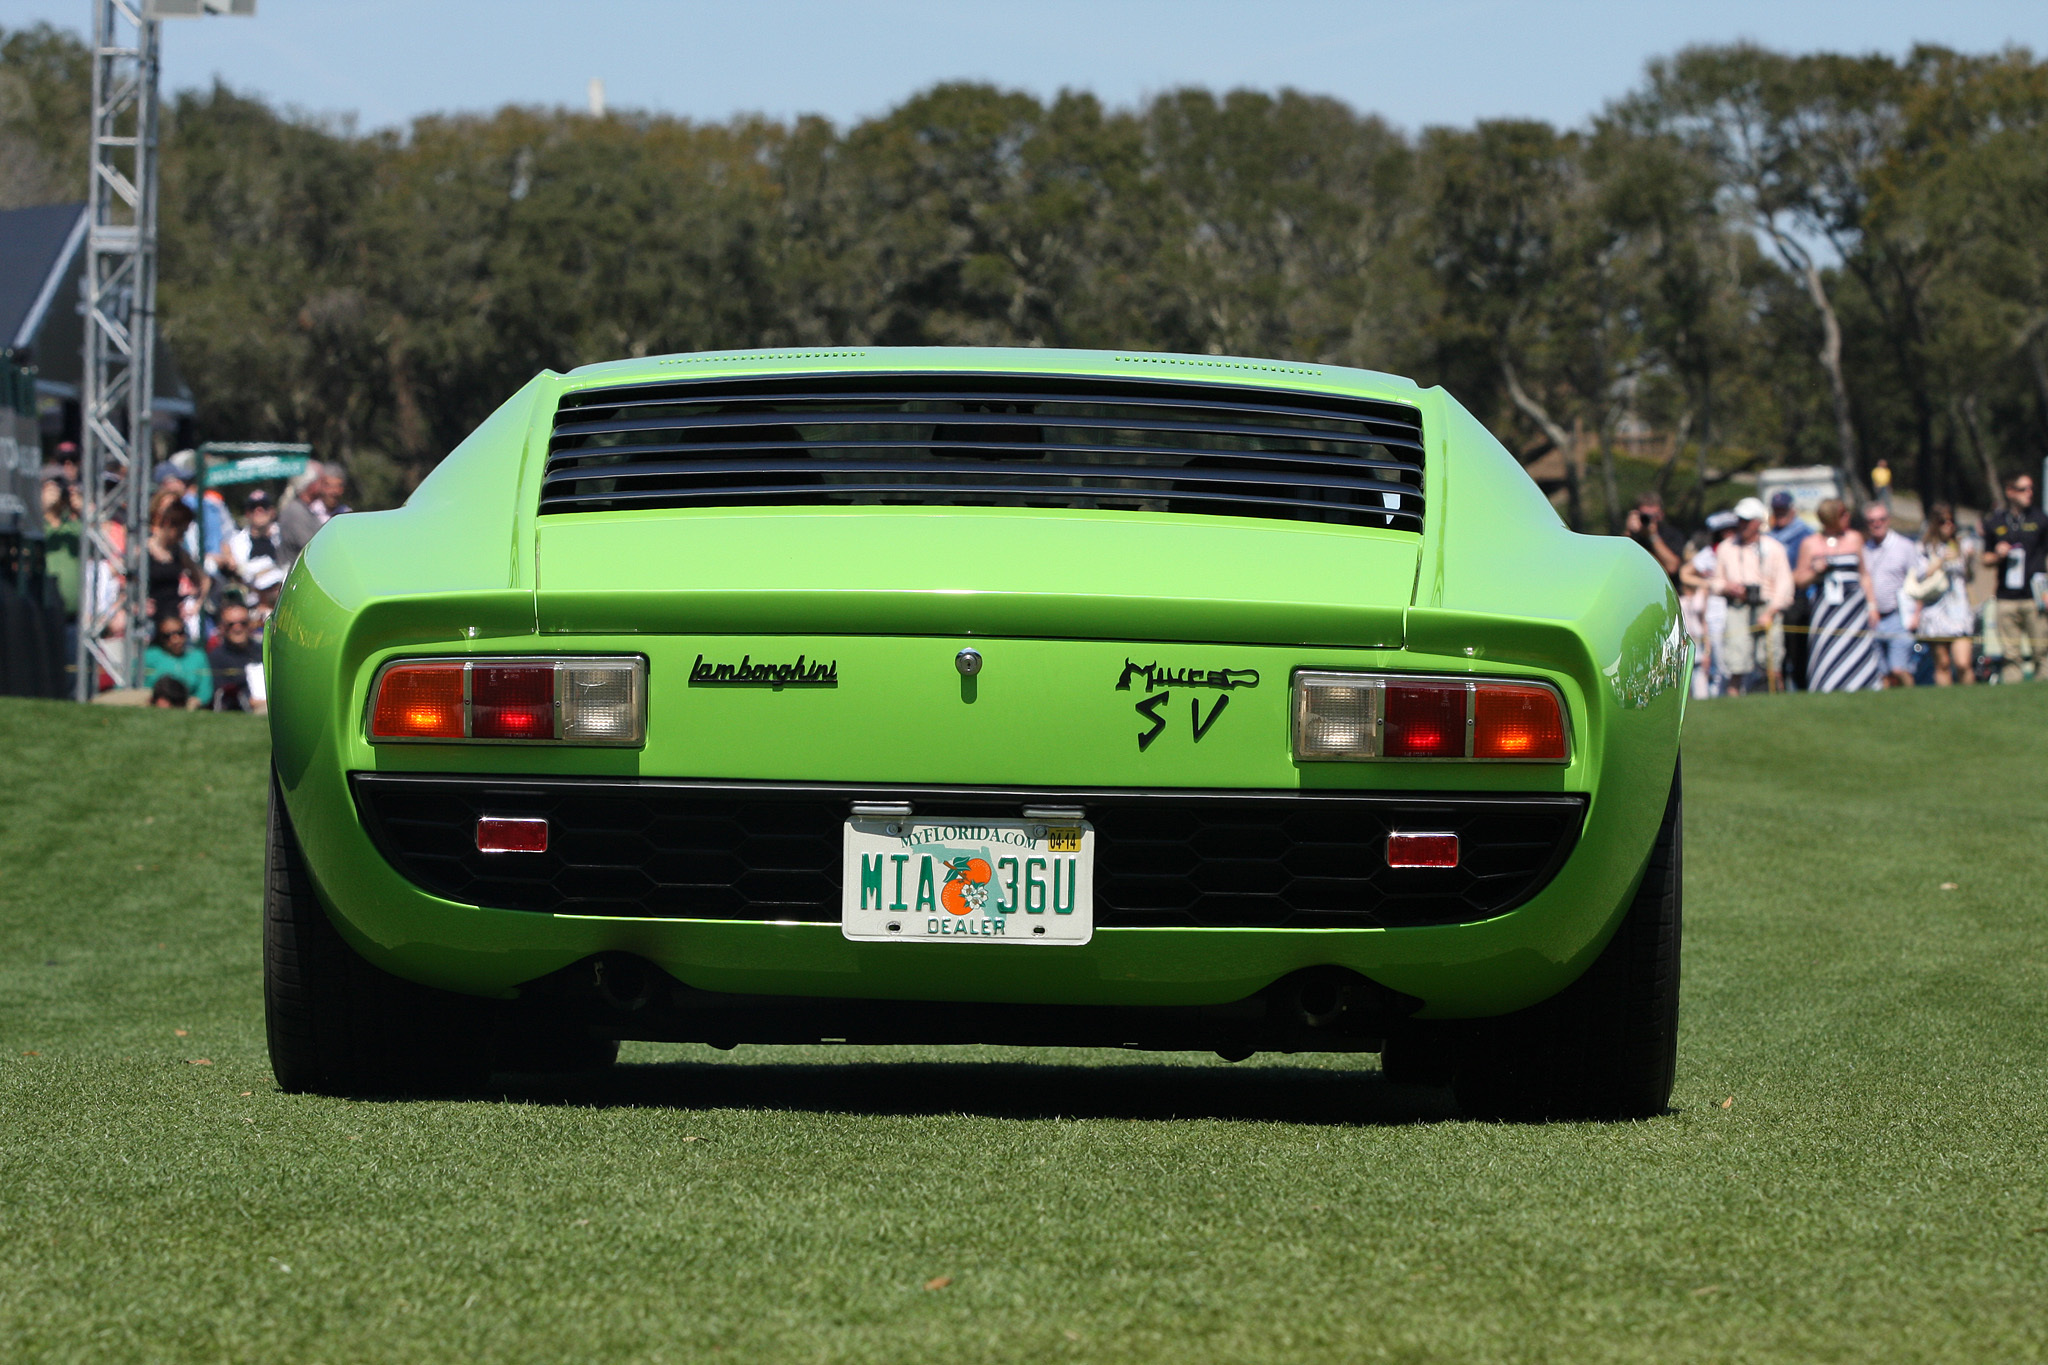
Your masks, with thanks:
M373 743L645 739L645 659L399 659L371 684Z

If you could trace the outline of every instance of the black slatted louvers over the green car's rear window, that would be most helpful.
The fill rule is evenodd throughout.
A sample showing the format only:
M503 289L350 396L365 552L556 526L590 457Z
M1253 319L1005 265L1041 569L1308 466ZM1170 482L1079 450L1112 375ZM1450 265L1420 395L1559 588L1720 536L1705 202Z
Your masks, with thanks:
M997 505L1421 530L1421 415L1202 383L831 375L584 389L541 512Z

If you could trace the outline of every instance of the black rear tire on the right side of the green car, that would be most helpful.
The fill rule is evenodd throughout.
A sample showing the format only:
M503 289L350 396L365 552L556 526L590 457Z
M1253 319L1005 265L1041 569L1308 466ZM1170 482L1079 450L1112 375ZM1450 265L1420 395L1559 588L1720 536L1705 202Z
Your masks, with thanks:
M1454 1089L1468 1115L1645 1119L1667 1109L1677 1070L1683 843L1673 772L1642 884L1585 976L1542 1005L1466 1025Z

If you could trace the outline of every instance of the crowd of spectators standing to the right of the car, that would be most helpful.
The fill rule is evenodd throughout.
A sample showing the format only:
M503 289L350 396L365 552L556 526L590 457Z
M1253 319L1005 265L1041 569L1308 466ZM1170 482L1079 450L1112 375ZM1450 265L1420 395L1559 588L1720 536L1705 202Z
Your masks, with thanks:
M2003 491L1980 528L1931 503L1917 536L1894 526L1890 483L1862 516L1823 499L1819 526L1790 493L1745 497L1692 538L1645 495L1624 530L1679 593L1698 698L2011 684L2048 677L2048 520L2032 475Z

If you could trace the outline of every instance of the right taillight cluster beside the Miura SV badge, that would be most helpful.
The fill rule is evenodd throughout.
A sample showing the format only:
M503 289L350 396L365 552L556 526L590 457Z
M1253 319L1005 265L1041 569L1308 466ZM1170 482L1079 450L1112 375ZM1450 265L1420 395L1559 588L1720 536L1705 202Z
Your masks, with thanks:
M1294 673L1294 757L1565 763L1565 700L1542 681Z

